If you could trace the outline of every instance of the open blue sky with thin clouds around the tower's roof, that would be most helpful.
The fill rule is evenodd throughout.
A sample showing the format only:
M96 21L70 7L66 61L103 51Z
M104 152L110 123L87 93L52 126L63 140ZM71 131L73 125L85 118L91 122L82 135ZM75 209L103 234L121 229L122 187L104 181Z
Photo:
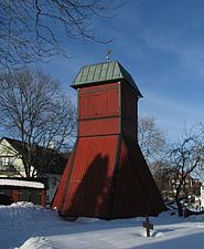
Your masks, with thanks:
M114 14L95 23L97 35L111 43L67 40L69 60L55 56L40 66L76 101L69 87L75 75L83 65L104 62L110 49L110 59L128 70L143 94L139 115L157 117L174 142L184 124L204 122L204 1L126 0Z

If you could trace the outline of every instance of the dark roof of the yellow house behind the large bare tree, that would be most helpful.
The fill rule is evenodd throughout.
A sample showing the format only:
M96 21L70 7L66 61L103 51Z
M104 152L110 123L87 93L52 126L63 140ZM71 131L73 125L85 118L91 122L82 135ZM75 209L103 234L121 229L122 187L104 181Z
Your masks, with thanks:
M28 158L26 143L10 137L2 137L0 142L3 139L6 139L18 154ZM61 154L53 148L45 148L39 145L33 145L31 151L33 155L33 165L41 169L42 174L63 174L69 153ZM40 168L41 166L42 168Z

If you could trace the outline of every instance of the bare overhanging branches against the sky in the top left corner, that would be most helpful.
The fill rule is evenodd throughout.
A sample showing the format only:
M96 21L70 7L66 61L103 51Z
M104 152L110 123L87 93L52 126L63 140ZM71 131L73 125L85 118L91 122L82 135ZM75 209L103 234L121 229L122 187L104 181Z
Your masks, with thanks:
M112 0L1 0L0 70L66 55L62 44L69 39L108 42L93 23L115 8Z

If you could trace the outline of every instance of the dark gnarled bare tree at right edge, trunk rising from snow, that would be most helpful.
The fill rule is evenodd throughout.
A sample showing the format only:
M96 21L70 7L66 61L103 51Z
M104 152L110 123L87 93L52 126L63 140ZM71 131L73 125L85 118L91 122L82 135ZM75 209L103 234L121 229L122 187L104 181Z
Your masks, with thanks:
M204 163L203 137L195 132L191 131L189 134L185 134L185 137L180 143L174 144L169 152L170 170L174 173L176 177L174 187L179 216L182 216L180 198L181 193L186 191L186 179L196 172L200 172L201 174Z

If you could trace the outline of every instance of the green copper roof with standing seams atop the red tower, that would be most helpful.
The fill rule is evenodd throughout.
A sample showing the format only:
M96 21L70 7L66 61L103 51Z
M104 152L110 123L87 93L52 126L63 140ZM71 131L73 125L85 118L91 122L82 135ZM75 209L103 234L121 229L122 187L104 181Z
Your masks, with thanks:
M124 69L122 65L120 65L119 62L114 61L83 66L75 77L72 87L77 89L87 84L96 84L108 81L112 82L116 80L127 81L137 91L138 96L142 97L131 75Z

